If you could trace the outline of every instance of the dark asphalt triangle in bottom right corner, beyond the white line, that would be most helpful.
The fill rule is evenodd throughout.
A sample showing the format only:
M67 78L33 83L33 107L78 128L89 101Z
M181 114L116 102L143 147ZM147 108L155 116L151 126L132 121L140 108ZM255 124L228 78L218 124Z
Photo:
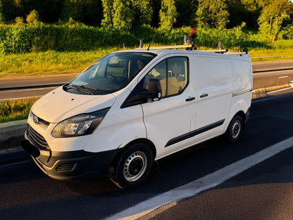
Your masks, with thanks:
M293 149L287 149L148 219L293 219L292 155Z

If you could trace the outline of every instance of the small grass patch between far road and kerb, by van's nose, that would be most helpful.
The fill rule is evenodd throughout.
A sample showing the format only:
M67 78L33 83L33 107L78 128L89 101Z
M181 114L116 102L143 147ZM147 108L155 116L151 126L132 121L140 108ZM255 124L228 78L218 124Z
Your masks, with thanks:
M37 99L0 102L0 123L27 118Z

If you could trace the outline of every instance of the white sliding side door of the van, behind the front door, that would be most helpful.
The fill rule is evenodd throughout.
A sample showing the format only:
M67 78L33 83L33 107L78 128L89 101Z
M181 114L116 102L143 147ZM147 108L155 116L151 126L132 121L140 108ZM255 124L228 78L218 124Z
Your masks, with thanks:
M197 141L223 132L232 102L232 73L225 56L195 55L195 63L199 98L194 130L206 130L194 137Z

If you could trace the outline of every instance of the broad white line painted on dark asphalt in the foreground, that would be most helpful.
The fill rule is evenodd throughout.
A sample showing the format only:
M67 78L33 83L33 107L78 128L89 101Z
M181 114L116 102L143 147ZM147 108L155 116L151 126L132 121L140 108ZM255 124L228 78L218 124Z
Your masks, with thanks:
M202 178L199 178L195 181L182 185L173 190L170 190L156 197L152 197L149 200L140 202L133 207L125 209L122 212L119 212L113 216L109 216L106 220L111 219L138 219L144 214L149 214L150 212L158 209L167 204L175 204L182 199L192 197L197 195L204 190L214 188L220 183L223 183L230 178L237 176L239 173L246 171L247 169L255 166L256 164L261 163L262 161L273 157L275 154L282 152L285 149L293 147L293 137L283 140L273 146L270 146L266 149L257 152L249 157L241 159L234 164L225 166L223 169L220 169L214 173L208 174Z

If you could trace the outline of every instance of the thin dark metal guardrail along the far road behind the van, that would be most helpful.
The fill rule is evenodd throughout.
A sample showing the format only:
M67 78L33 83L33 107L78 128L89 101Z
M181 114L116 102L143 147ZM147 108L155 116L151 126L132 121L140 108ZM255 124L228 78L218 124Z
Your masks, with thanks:
M293 70L293 68L279 68L279 69L253 71L253 73L266 73L266 72L292 71L292 70ZM13 86L13 87L0 87L0 92L1 91L8 91L8 90L27 90L27 89L39 89L39 88L45 88L45 87L59 87L59 86L64 85L66 83L67 82L58 82L58 83L41 84L41 85L20 85L20 86Z

